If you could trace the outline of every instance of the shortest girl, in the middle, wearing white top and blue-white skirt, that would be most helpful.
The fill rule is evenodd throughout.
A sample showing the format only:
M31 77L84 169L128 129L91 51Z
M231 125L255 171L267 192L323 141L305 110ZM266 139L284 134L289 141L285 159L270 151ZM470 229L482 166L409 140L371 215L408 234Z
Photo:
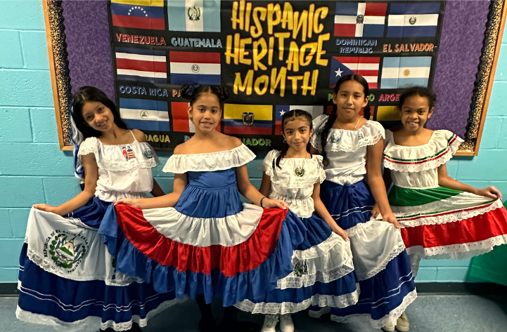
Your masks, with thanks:
M347 307L357 303L359 287L347 232L338 226L319 197L326 179L322 157L307 152L312 137L312 115L301 109L282 117L283 150L272 150L260 166L264 172L260 192L281 199L307 227L302 244L293 254L294 272L278 280L264 298L237 303L236 307L266 314L262 332L293 332L291 313L310 305Z

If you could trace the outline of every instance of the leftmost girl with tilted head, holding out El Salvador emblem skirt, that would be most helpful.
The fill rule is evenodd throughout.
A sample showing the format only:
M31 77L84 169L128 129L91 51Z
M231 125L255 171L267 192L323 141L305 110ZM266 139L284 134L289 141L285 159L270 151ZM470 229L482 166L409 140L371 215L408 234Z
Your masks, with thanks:
M157 293L117 273L98 227L116 199L164 194L151 175L158 158L97 88L80 88L72 107L76 173L84 190L60 206L36 204L30 211L16 315L65 331L99 325L141 331L153 314L176 302L174 292Z

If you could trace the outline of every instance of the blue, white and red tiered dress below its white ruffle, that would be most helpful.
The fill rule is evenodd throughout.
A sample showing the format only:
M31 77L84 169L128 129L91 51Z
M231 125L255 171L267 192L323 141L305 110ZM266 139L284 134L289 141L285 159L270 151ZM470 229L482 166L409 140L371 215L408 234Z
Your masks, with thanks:
M117 257L117 270L229 306L255 300L293 272L293 250L305 227L293 212L240 201L236 170L188 172L174 208L110 207L99 232ZM117 223L116 223L117 220Z

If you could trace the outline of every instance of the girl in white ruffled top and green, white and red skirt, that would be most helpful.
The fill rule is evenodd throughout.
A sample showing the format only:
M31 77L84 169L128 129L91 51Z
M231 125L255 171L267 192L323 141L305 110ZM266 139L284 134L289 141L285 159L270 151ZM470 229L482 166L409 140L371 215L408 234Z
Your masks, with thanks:
M399 98L403 128L386 131L384 178L389 202L417 274L421 258L468 258L507 243L507 211L495 187L477 189L451 178L446 163L463 140L431 131L436 97L414 87Z

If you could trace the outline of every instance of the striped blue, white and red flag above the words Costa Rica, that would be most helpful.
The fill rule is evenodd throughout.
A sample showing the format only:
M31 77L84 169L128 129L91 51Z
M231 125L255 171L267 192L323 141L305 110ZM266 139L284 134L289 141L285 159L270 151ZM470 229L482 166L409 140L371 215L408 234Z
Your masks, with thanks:
M167 84L165 51L117 47L115 55L119 80Z

